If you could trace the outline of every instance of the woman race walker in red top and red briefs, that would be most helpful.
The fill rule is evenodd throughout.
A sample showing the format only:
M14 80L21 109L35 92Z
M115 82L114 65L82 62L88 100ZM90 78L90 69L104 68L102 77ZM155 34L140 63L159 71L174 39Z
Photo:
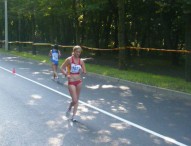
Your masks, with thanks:
M73 107L73 114L71 116L72 121L75 121L74 116L77 112L78 100L82 87L81 73L86 74L85 63L80 59L81 52L82 48L80 46L75 46L73 48L72 56L68 57L60 67L61 72L68 78L68 90L72 97L72 102L67 109L66 117L70 117Z

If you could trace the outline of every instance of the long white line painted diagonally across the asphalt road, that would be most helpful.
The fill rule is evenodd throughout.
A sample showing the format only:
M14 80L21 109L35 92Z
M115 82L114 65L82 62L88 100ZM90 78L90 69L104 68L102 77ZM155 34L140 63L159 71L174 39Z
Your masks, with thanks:
M11 70L8 70L8 69L6 69L6 68L4 68L4 67L1 67L1 66L0 66L0 68L1 68L2 70L5 70L5 71L9 72L9 73L12 73ZM55 90L55 89L52 89L52 88L46 86L46 85L43 85L43 84L41 84L41 83L39 83L39 82L36 82L36 81L31 80L31 79L29 79L29 78L26 78L26 77L24 77L24 76L22 76L22 75L20 75L20 74L15 73L15 75L18 76L18 77L20 77L20 78L23 78L23 79L25 79L25 80L28 80L28 81L30 81L30 82L32 82L32 83L35 83L35 84L37 84L37 85L39 85L39 86L41 86L41 87L44 87L44 88L46 88L46 89L48 89L48 90L51 90L51 91L53 91L53 92L55 92L55 93L58 93L58 94L60 94L60 95L62 95L62 96L65 96L65 97L71 99L71 97L70 97L69 95L67 95L67 94L64 94L64 93L62 93L62 92L59 92L59 91L57 91L57 90ZM140 126L140 125L138 125L138 124L135 124L135 123L133 123L133 122L130 122L130 121L126 120L126 119L123 119L123 118L121 118L121 117L119 117L119 116L116 116L116 115L111 114L111 113L109 113L109 112L107 112L107 111L104 111L104 110L102 110L102 109L99 109L99 108L97 108L97 107L95 107L95 106L92 106L92 105L90 105L90 104L88 104L88 103L85 103L85 102L83 102L83 101L81 101L81 100L79 100L79 102L80 102L81 104L83 104L83 105L86 105L86 106L89 107L89 108L92 108L92 109L94 109L94 110L97 110L97 111L99 111L99 112L101 112L101 113L103 113L103 114L105 114L105 115L107 115L107 116L110 116L110 117L112 117L112 118L115 118L115 119L117 119L117 120L119 120L119 121L121 121L121 122L124 122L124 123L126 123L126 124L129 124L129 125L131 125L131 126L133 126L133 127L136 127L136 128L138 128L138 129L140 129L140 130L142 130L142 131L145 131L145 132L147 132L147 133L149 133L149 134L155 135L155 136L157 136L157 137L159 137L159 138L161 138L161 139L163 139L163 140L165 140L165 141L171 142L171 143L176 144L176 145L178 145L178 146L188 146L188 145L183 144L183 143L181 143L181 142L179 142L179 141L176 141L176 140L173 139L173 138L170 138L170 137L168 137L168 136L164 136L164 135L162 135L162 134L159 134L159 133L157 133L157 132L154 132L154 131L152 131L152 130L149 130L149 129L143 127L143 126Z

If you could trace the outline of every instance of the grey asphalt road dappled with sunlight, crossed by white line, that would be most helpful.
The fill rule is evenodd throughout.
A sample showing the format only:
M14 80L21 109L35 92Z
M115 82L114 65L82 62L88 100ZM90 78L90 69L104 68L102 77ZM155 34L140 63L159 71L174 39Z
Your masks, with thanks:
M191 146L191 98L87 74L74 123L59 76L55 82L50 66L0 54L0 146Z

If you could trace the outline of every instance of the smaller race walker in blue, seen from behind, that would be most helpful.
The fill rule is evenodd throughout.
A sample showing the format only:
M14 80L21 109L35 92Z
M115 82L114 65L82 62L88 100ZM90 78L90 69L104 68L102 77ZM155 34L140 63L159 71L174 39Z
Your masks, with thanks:
M58 79L58 60L61 56L60 51L58 50L58 45L54 45L52 50L49 52L49 56L51 57L52 62L52 70L53 70L53 79Z

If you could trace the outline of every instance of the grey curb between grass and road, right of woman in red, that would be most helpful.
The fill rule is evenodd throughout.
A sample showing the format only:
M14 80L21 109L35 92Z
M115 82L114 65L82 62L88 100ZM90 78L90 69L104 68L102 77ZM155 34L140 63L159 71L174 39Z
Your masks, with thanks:
M143 83L131 82L131 81L128 81L128 80L122 80L122 79L119 79L119 78L99 75L99 74L91 73L91 72L88 72L87 75L96 76L96 77L98 77L100 79L109 80L109 81L112 81L112 82L126 84L126 85L128 85L128 86L130 86L132 88L136 88L136 89L143 90L143 91L146 91L146 92L153 92L153 93L156 93L156 94L164 94L166 96L175 97L175 98L191 99L191 94L185 93L185 92L175 91L175 90L166 89L166 88L160 88L160 87L156 87L156 86L146 85L146 84L143 84Z

